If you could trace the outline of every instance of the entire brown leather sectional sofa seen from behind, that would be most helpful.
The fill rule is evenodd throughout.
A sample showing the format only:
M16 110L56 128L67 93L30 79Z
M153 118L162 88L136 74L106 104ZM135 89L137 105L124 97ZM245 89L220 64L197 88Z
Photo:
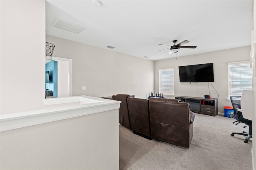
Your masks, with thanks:
M119 123L133 133L189 148L195 113L190 111L188 103L166 98L138 99L129 95L116 95L113 100L122 101Z

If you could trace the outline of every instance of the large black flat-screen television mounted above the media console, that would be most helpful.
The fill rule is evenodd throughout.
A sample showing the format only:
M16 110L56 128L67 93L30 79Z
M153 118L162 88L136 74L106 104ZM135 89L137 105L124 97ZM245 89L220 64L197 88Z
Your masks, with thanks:
M180 82L214 82L213 63L179 66Z

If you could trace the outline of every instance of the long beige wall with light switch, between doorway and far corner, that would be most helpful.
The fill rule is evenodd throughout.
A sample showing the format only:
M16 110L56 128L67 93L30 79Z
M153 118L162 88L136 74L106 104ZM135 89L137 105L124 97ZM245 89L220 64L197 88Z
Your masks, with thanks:
M46 41L55 45L54 57L72 59L73 96L130 94L146 99L154 92L154 61L48 35Z

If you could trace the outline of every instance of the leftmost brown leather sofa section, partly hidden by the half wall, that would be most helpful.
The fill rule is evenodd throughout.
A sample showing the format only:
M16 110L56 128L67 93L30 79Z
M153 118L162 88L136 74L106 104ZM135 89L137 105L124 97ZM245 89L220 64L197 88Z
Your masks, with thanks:
M130 95L118 94L118 95L112 96L113 100L118 100L122 102L120 103L120 108L119 108L119 123L124 125L124 127L126 128L131 128L127 100L126 100L128 97L130 97Z

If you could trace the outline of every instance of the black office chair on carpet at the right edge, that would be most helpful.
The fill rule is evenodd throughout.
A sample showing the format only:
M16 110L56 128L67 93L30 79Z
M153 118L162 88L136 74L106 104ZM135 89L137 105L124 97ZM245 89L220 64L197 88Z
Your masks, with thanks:
M240 100L241 100L241 96L230 96L230 100L234 109L234 115L236 115L236 121L234 121L233 123L236 123L236 125L238 125L239 123L244 123L247 127L249 126L249 133L248 132L232 132L232 134L230 134L231 136L234 136L234 134L240 134L243 136L246 136L244 142L248 143L248 140L250 138L252 138L252 121L245 119L242 115L242 112L238 111L238 109L241 109L241 104L240 104Z

